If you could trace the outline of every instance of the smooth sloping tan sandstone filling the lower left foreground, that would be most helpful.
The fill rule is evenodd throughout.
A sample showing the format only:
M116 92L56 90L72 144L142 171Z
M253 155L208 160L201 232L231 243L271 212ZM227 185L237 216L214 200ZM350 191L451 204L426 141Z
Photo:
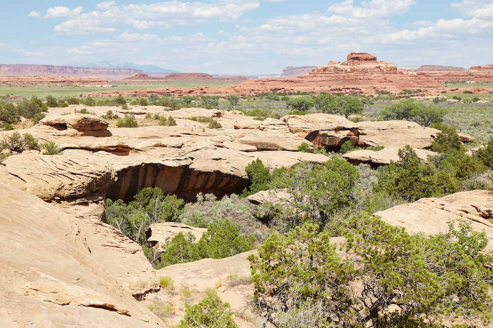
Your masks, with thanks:
M141 250L140 264L127 262L124 252L100 256L93 242L99 237L85 231L84 224L0 184L1 327L166 327L132 296L131 284L123 283L130 273L148 287L159 286ZM119 245L106 236L100 247ZM108 269L110 262L119 262L120 270ZM153 275L144 277L144 267Z

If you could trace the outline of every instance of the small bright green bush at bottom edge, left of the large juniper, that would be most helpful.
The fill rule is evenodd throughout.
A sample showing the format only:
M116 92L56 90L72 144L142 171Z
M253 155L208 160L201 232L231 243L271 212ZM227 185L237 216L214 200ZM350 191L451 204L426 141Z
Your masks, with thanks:
M185 315L176 328L238 328L229 303L208 293L198 304L186 305Z

